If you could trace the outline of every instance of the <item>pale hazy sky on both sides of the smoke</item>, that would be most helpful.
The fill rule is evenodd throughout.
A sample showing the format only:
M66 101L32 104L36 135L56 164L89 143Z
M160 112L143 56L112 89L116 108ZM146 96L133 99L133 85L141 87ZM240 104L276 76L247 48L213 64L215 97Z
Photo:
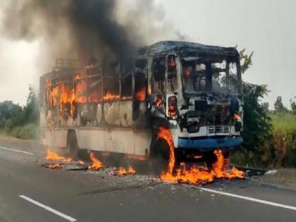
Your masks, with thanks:
M253 66L243 80L268 85L270 92L264 101L269 101L270 108L278 96L287 106L289 99L296 96L296 1L156 2L164 10L165 19L187 40L223 47L238 44L238 49L254 51ZM39 64L41 42L11 42L0 37L0 101L25 104L28 85L38 89L39 75L50 71Z

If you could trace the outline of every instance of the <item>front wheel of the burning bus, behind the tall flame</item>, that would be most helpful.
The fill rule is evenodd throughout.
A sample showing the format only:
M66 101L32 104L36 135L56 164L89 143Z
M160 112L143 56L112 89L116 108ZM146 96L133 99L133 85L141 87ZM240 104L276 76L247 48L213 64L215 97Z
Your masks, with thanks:
M168 168L168 159L170 156L170 147L165 140L156 140L150 153L150 162L152 170L156 175L166 171Z

